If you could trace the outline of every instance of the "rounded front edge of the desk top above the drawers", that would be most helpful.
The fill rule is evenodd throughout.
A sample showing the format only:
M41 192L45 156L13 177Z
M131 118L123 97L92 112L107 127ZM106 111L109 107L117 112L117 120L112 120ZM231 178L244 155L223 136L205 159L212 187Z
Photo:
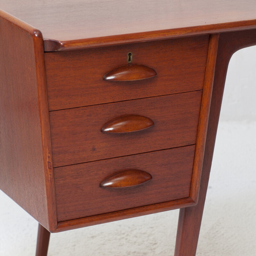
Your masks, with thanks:
M223 24L212 24L188 28L175 28L157 31L147 31L134 34L123 34L114 36L103 36L96 38L84 38L69 41L58 41L54 39L44 39L45 52L59 52L70 50L83 50L87 48L142 43L147 41L180 38L186 36L196 36L205 34L216 34L221 32L231 32L237 30L247 30L256 28L256 20L246 20L238 22L228 22Z

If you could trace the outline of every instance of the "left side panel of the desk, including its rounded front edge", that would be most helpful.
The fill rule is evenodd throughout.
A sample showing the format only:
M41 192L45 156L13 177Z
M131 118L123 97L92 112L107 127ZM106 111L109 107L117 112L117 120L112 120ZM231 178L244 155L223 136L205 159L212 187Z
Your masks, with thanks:
M0 11L0 188L47 229L57 226L43 38Z

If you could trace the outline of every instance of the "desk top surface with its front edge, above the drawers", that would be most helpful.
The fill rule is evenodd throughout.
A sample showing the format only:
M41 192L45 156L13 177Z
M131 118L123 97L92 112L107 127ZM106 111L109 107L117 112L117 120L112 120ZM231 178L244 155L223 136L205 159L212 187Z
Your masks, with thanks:
M157 39L256 27L255 0L8 0L0 9L39 29L44 39L65 42L63 47L71 41L93 46L95 38L105 44L106 37L128 42L127 34L138 42L149 34Z

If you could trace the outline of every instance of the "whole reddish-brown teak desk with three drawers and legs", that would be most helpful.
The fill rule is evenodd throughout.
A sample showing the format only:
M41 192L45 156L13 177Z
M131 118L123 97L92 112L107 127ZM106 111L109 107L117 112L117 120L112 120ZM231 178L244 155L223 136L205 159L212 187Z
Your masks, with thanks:
M177 208L175 255L195 255L228 62L256 44L256 2L0 8L0 187L40 223L36 255L50 232Z

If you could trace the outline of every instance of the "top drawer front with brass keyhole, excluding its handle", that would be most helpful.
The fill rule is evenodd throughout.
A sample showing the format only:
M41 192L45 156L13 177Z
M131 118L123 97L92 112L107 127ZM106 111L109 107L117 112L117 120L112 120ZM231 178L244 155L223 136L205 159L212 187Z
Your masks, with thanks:
M45 52L50 110L83 107L201 90L209 36L127 44L80 51ZM127 64L153 68L157 75L137 81L104 81Z

